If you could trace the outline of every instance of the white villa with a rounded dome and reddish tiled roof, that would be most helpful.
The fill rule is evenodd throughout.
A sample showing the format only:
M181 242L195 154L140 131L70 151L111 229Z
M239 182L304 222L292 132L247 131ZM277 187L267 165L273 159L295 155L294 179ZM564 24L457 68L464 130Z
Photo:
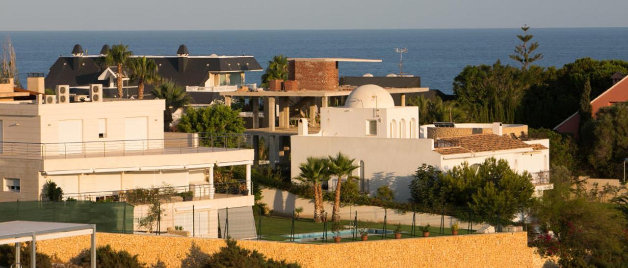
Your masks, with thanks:
M342 152L359 165L354 175L360 178L360 190L374 195L387 185L405 202L412 175L423 163L449 170L495 157L507 160L516 172L530 172L537 195L553 187L548 182L549 140L530 140L526 125L418 126L416 106L394 106L391 95L376 85L359 86L344 107L323 107L320 114L320 132L308 133L307 120L301 119L298 135L291 137L291 177L299 175L307 157Z

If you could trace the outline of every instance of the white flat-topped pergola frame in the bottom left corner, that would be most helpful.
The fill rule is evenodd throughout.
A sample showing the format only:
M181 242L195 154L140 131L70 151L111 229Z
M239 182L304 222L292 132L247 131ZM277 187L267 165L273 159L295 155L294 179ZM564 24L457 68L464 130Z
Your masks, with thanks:
M77 235L92 235L91 264L96 267L96 225L95 224L68 224L64 222L31 222L14 220L0 223L0 245L15 245L16 267L23 267L19 263L19 243L31 242L31 267L36 267L36 244L38 240L57 239Z

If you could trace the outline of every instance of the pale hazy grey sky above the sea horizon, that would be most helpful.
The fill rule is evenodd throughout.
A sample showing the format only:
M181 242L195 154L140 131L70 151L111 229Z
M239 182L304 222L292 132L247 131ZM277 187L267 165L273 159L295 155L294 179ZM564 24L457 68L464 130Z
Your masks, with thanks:
M0 0L0 31L628 27L627 0Z

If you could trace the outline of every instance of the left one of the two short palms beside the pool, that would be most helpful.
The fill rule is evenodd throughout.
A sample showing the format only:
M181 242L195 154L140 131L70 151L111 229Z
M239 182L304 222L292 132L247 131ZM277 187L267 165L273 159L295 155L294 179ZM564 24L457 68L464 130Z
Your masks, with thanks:
M305 163L299 166L301 173L297 180L311 183L314 188L314 222L323 221L323 188L322 182L329 180L327 158L308 157Z

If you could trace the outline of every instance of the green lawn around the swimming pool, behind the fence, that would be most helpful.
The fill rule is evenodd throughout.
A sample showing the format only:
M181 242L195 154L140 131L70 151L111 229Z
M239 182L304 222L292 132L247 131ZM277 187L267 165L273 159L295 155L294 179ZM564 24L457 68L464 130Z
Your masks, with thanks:
M274 241L290 240L290 237L283 237L282 235L290 235L291 222L292 222L291 218L276 217L276 216L271 216L271 217L259 216L258 213L254 213L254 217L255 217L256 228L258 227L260 217L262 219L262 225L261 225L262 239L274 240ZM352 225L353 221L342 220L342 224ZM363 222L359 221L358 228L360 228L361 226L363 226ZM372 229L382 229L383 226L384 226L383 223L374 223L374 222L369 223L369 228L372 228ZM295 234L304 234L304 233L310 233L310 232L323 232L323 227L324 227L323 223L316 223L312 219L295 220ZM331 222L328 222L327 230L330 230L331 228L332 228L332 224ZM403 232L401 235L401 238L410 238L411 228L412 228L411 225L401 225L401 229ZM386 229L392 231L395 229L395 225L392 224L391 222L388 222ZM416 226L416 233L418 236L423 236L423 232L421 232L421 229L419 226ZM469 233L472 234L473 231L468 232L468 230L466 229L458 229L459 235L469 234ZM452 230L449 228L445 228L445 235L451 235L451 234L452 234ZM433 237L433 236L438 236L438 226L430 227L430 237ZM379 240L379 239L382 239L381 235L373 235L373 234L369 235L369 240ZM388 234L387 239L394 239L394 234ZM359 234L358 234L357 240L361 240L361 238L359 237ZM352 241L352 239L344 239L344 238L342 239L342 242L350 242L350 241ZM333 242L333 237L331 235L328 236L328 242Z

